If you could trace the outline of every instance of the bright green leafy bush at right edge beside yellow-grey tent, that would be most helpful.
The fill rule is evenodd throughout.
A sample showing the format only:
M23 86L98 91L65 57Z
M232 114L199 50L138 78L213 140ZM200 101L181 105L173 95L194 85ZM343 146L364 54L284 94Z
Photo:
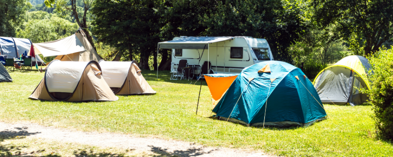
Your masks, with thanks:
M366 93L374 105L377 135L393 142L393 48L381 50L368 60L374 73L368 76L371 90Z

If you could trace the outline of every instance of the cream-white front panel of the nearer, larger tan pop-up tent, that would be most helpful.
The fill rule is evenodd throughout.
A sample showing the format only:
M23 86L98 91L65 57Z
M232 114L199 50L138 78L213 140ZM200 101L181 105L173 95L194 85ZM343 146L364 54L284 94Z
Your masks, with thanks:
M88 63L53 60L45 74L48 91L73 93Z

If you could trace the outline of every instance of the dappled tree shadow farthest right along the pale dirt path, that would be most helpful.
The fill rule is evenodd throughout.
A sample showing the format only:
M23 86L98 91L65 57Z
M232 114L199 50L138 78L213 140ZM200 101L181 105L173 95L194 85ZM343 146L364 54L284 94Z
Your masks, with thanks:
M173 153L168 152L168 149L163 149L161 147L154 147L154 146L149 146L151 148L152 152L155 152L159 154L160 156L154 156L154 157L172 157L171 155L174 155L175 157L197 157L201 156L204 154L210 154L214 150L211 150L209 152L204 152L203 149L201 148L191 148L187 150L175 150Z

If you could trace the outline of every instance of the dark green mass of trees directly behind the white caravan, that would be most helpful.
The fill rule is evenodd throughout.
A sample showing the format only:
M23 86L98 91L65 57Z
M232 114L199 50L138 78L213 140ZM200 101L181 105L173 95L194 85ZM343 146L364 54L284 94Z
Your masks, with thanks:
M287 48L306 26L299 10L283 6L281 0L96 0L93 33L128 50L122 55L140 54L141 68L159 41L180 35L266 38L275 58L289 61Z

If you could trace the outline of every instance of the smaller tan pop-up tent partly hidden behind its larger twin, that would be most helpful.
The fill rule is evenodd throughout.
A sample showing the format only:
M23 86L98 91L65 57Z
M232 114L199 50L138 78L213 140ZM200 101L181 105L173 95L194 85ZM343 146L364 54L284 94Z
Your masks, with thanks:
M102 76L111 87L114 94L134 95L134 94L155 94L146 79L140 73L138 63L104 61L98 62L102 68Z

